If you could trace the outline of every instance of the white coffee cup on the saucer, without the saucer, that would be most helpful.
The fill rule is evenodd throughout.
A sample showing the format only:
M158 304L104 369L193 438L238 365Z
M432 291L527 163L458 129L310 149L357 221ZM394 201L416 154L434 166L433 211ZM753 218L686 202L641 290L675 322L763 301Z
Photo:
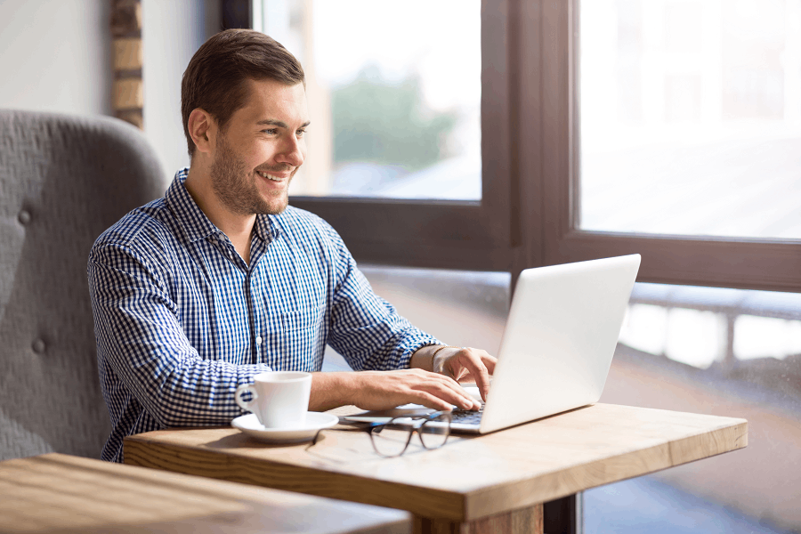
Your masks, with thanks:
M242 393L253 398L242 400ZM267 428L298 428L306 422L312 373L303 371L270 371L254 376L253 384L237 388L236 401L241 409L255 413Z

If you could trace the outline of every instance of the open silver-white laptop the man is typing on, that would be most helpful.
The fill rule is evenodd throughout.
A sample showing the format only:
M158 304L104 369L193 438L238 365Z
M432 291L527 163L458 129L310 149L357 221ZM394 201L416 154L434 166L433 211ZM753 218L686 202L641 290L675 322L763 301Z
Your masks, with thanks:
M625 255L522 271L487 402L480 413L455 409L451 431L490 433L597 402L639 266L640 255ZM432 411L407 404L344 419L387 421Z

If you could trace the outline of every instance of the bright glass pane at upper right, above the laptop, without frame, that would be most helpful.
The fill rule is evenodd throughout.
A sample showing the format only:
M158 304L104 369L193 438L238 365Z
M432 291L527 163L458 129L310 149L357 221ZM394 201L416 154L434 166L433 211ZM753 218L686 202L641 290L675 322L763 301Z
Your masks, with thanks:
M580 3L580 228L801 239L801 3Z

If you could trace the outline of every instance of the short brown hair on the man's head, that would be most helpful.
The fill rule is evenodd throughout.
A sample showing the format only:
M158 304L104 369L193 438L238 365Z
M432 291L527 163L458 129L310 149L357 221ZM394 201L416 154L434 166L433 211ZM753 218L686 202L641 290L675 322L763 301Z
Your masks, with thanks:
M245 105L248 79L305 84L303 67L295 56L275 39L252 29L226 29L192 56L181 82L183 134L190 158L195 153L189 134L192 110L204 109L224 131L231 115Z

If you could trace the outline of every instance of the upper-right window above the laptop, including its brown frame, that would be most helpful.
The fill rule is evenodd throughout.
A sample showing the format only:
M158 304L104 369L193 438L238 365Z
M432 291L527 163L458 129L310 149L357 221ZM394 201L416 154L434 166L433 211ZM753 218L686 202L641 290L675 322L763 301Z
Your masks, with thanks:
M799 61L782 29L801 20L767 4L530 8L544 40L523 63L541 69L519 91L539 94L523 116L542 141L520 158L542 173L545 263L640 253L640 281L801 290Z

